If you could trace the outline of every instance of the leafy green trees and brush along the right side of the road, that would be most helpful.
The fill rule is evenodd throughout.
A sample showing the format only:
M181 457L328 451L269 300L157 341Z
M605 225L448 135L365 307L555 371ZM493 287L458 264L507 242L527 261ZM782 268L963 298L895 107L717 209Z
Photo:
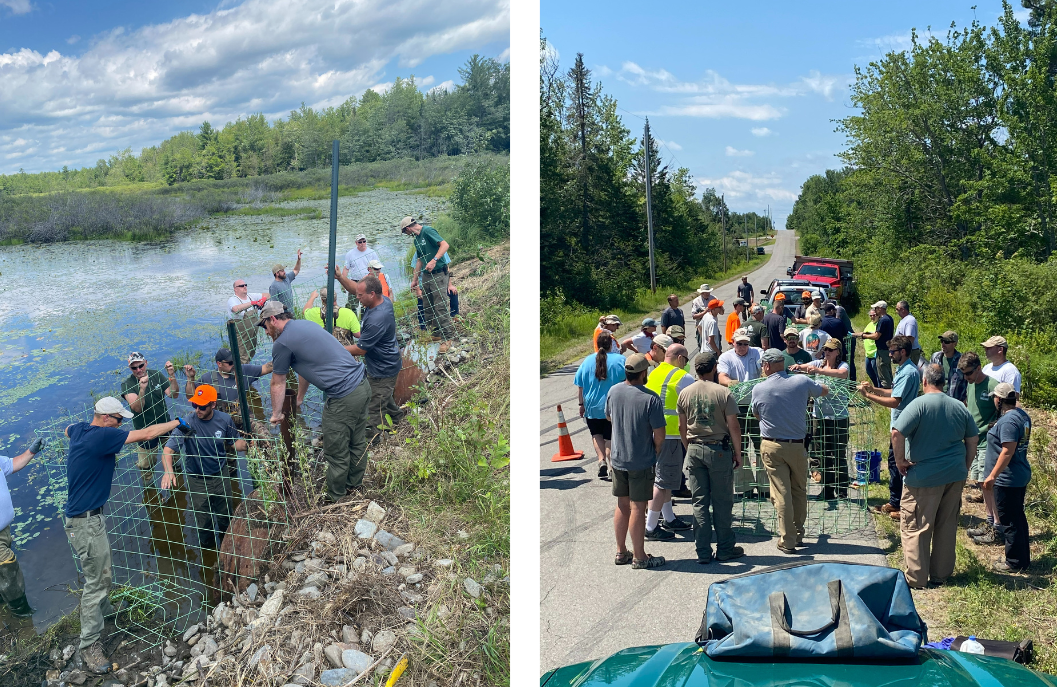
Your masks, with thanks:
M856 68L846 166L804 182L786 226L803 253L856 260L864 302L1012 333L1042 370L1057 364L1057 4L1023 4L1023 24L1004 3L994 26L912 34Z

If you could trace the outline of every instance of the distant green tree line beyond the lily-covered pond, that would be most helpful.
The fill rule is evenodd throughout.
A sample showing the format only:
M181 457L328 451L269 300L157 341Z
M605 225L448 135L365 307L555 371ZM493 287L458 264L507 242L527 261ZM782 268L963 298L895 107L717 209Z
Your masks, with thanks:
M508 153L509 63L474 55L459 75L451 90L423 92L413 76L397 77L385 93L368 90L321 110L301 104L272 123L261 113L220 129L204 122L138 155L126 148L94 167L2 175L0 196L304 171L330 166L335 138L342 165Z

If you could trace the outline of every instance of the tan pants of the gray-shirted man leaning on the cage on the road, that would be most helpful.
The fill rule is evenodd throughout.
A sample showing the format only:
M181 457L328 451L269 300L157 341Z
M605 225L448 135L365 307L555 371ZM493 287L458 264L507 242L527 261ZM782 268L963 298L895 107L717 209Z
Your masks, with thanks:
M771 499L778 512L778 545L795 549L803 543L803 524L808 520L808 451L803 442L764 439L760 452L771 482Z

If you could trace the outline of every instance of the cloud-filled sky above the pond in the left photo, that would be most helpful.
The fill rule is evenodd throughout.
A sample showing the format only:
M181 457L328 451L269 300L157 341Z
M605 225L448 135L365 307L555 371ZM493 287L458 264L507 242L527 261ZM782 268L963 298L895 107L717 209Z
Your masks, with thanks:
M0 0L0 173L507 61L509 0Z

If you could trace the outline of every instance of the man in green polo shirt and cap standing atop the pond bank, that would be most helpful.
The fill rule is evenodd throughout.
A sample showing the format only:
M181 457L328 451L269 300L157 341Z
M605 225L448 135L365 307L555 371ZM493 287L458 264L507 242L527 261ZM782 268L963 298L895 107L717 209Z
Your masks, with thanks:
M441 238L431 226L423 226L418 220L405 217L400 222L401 234L414 240L414 275L411 291L421 296L426 310L426 326L433 333L433 340L441 341L441 353L451 348L456 329L451 323L448 303L448 242ZM422 287L419 287L419 276Z

